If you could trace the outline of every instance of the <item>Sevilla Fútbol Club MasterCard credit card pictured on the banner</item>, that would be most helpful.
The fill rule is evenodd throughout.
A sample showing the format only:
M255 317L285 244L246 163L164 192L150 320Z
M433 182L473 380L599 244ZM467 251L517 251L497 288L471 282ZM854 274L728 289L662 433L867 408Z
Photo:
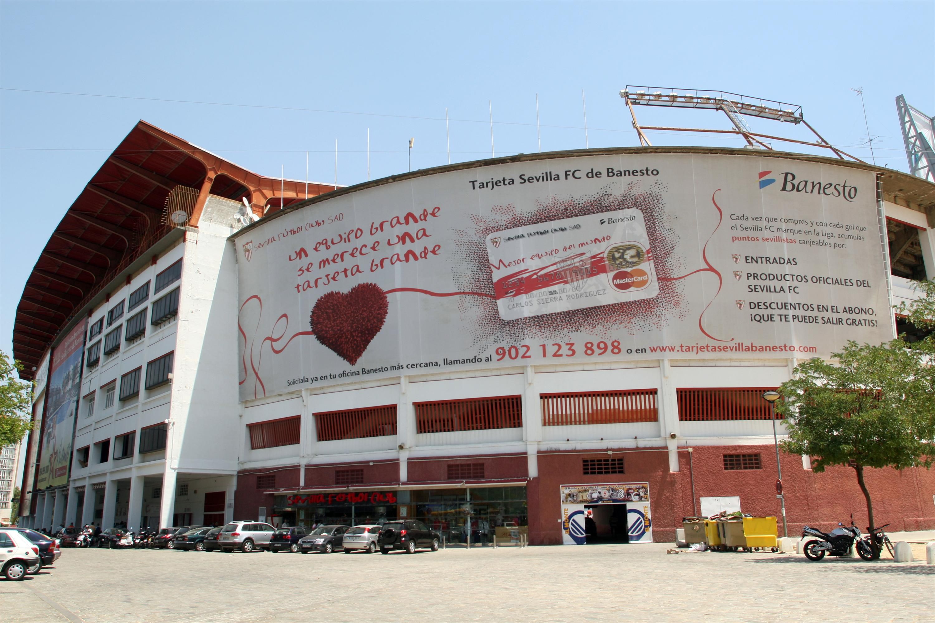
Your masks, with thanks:
M550 220L487 236L500 318L653 298L659 293L637 209Z

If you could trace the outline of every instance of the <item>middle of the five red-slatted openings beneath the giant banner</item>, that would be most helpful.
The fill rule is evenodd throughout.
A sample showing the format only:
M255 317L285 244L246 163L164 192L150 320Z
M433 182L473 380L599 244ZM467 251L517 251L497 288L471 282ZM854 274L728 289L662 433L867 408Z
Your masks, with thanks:
M519 396L416 403L418 432L482 431L523 426Z

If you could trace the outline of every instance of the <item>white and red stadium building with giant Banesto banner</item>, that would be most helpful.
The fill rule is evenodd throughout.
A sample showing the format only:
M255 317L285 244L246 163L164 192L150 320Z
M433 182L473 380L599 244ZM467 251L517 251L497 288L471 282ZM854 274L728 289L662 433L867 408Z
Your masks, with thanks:
M108 158L18 309L48 377L27 524L570 545L782 517L763 392L902 333L935 278L935 185L839 158L587 149L305 192L143 122ZM790 534L865 514L853 470L780 460ZM879 523L935 527L935 474L871 472Z

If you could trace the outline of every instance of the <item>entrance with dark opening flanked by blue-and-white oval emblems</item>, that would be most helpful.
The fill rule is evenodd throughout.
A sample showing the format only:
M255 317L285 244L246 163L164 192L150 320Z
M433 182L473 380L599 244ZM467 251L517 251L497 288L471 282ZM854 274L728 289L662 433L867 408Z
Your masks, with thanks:
M589 536L619 539L624 530L627 543L653 543L649 483L562 485L561 496L562 545L585 545Z

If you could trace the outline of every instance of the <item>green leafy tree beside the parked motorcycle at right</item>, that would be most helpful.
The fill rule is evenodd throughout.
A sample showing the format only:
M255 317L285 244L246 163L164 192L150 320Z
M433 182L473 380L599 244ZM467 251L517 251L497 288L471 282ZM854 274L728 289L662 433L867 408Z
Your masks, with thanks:
M917 327L935 318L935 284L899 311ZM816 473L828 466L854 468L867 501L868 468L929 467L935 460L935 341L909 344L901 338L878 346L850 341L831 361L813 359L796 367L779 388L776 410L785 418L785 452L808 455ZM875 545L874 545L875 549Z

